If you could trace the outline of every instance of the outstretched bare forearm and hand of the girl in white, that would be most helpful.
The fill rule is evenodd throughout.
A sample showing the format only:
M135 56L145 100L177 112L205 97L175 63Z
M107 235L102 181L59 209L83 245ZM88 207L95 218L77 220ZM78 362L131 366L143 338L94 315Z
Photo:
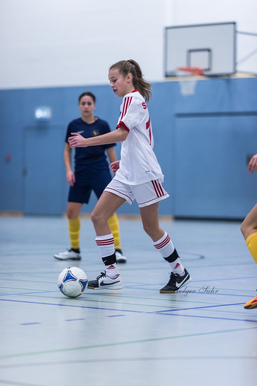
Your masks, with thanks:
M110 133L99 135L92 138L84 138L82 135L77 133L71 133L73 137L69 137L68 142L73 147L87 147L87 146L97 146L97 145L107 145L114 142L125 141L128 132L123 129L123 127L118 127L116 131L111 131Z

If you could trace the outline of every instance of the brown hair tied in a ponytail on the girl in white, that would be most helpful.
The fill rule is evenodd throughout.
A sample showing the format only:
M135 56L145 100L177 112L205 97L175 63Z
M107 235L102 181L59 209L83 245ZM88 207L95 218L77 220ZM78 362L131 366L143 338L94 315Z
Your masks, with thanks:
M149 101L152 96L151 83L148 83L143 78L141 68L135 60L121 60L113 64L109 69L118 69L119 73L121 73L123 76L126 76L129 73L132 74L134 87L139 91L142 97L144 97L146 102Z

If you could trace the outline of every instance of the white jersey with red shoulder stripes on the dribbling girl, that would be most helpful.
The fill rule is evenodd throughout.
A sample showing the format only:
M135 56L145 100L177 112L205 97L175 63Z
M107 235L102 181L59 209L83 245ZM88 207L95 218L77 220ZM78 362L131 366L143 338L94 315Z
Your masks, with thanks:
M160 178L161 167L153 152L153 132L146 102L138 90L124 96L118 127L128 131L121 145L121 161L115 179L139 185Z

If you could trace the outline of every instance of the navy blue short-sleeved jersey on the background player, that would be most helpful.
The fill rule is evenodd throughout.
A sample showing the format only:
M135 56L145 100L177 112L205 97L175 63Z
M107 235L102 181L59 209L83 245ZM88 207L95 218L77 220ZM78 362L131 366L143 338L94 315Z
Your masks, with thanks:
M98 118L94 123L87 124L82 121L81 118L74 119L67 128L65 142L68 142L68 138L72 137L71 133L78 133L84 138L96 137L97 135L102 135L109 133L110 127L108 123L100 118ZM69 142L68 142L69 143ZM83 166L87 166L95 163L104 163L106 164L106 154L105 150L109 147L113 147L116 144L107 144L107 145L97 145L97 146L87 146L87 147L75 147L75 169L82 169Z

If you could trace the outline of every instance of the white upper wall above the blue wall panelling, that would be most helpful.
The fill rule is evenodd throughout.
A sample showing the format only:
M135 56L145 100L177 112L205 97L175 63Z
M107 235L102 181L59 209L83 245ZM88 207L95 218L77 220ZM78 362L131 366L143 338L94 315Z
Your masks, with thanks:
M235 21L257 33L256 15L256 0L0 0L0 88L107 84L122 59L163 81L165 27Z

